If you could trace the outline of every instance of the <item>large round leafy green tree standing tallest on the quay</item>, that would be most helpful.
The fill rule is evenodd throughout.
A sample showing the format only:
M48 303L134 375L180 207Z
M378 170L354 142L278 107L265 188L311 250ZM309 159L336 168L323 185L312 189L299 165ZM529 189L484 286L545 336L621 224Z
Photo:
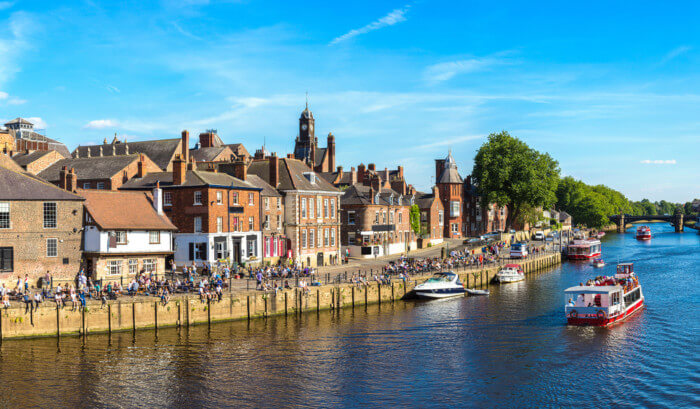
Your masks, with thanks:
M546 208L556 201L559 164L508 132L492 133L474 158L472 179L482 206L508 206L506 227L527 208Z

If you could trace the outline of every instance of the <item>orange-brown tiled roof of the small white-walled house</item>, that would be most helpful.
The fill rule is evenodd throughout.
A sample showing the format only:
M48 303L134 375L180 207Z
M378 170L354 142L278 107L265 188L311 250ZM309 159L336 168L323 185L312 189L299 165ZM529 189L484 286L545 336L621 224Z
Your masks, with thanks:
M177 230L165 215L153 208L146 192L79 190L85 208L103 230Z

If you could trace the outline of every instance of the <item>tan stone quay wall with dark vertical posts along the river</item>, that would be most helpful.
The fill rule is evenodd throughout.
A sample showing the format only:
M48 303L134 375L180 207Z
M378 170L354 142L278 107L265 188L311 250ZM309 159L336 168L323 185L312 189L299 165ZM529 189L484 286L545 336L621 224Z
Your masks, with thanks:
M561 263L561 254L550 253L520 261L525 274L540 271ZM484 269L457 269L467 288L490 285L498 272L498 266ZM309 291L294 288L264 293L242 291L224 293L221 301L202 303L196 295L174 297L162 305L156 297L128 297L88 304L82 310L67 306L56 308L51 301L34 311L22 307L3 309L0 312L0 342L2 339L35 338L111 333L112 331L136 331L175 326L211 324L222 321L257 319L273 315L294 315L304 312L334 310L367 304L395 302L411 298L412 289L430 275L393 280L391 284L367 285L351 283L309 287Z

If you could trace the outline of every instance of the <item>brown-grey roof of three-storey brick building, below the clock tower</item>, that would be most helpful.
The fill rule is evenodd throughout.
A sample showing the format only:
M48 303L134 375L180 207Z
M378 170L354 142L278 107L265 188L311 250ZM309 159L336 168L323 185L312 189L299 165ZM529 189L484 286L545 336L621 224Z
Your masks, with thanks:
M314 172L298 159L280 158L279 159L279 183L275 186L279 190L307 190L318 192L339 192L333 185ZM270 181L270 165L269 160L253 161L248 167L248 173L260 176L265 182ZM305 174L313 173L316 175L316 183L306 177Z

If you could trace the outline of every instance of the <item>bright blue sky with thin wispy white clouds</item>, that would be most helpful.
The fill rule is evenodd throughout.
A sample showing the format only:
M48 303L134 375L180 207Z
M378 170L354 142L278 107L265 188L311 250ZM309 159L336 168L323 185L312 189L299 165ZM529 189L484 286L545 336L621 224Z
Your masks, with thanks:
M217 129L293 150L308 92L337 164L428 190L489 133L630 199L700 197L698 2L3 1L0 120L78 145ZM4 121L3 121L4 123Z

